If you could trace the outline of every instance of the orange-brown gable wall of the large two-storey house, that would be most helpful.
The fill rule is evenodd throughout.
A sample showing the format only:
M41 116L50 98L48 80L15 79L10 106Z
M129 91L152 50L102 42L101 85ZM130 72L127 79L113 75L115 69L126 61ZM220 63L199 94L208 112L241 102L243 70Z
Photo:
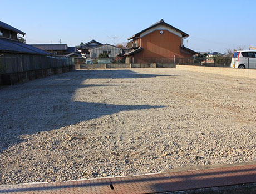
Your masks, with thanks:
M150 34L141 38L141 47L143 50L134 54L134 58L146 57L193 57L193 54L181 53L181 37L175 35L168 30L163 30L164 33L160 34L160 30L155 30Z

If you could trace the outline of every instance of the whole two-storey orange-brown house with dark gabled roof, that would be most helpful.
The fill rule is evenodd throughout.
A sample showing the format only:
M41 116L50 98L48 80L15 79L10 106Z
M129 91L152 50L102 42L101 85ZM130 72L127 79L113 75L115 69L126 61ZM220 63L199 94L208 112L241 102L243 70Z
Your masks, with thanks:
M193 57L196 52L184 47L189 34L165 23L163 19L128 38L125 56L130 63L175 63L175 59Z

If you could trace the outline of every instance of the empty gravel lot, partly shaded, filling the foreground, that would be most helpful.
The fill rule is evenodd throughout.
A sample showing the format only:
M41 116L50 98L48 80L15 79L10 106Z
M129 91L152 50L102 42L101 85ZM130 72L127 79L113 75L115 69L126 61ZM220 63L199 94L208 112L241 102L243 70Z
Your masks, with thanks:
M1 184L256 161L256 79L77 70L0 96Z

